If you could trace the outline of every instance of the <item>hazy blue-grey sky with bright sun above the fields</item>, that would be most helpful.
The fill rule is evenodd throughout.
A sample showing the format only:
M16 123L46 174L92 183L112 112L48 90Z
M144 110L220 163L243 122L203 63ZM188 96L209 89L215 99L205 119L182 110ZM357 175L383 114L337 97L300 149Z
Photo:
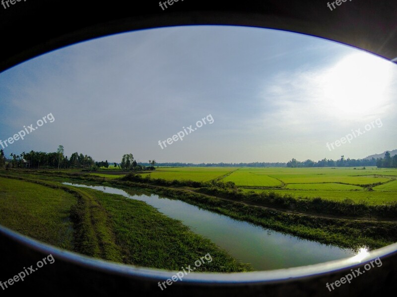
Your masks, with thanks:
M287 162L363 158L397 148L397 65L323 39L268 29L190 26L95 39L0 73L4 149L119 162ZM183 141L158 141L196 125ZM351 143L327 142L381 119Z

